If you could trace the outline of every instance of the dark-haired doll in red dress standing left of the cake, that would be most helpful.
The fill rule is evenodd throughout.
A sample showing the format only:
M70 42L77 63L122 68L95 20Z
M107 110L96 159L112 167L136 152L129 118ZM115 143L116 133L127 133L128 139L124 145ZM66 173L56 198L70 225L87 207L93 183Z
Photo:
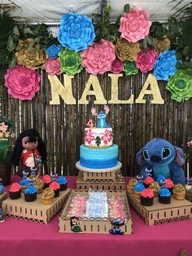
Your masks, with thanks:
M12 163L20 166L18 174L22 177L23 171L31 174L33 170L39 172L39 166L46 161L46 145L37 130L24 130L15 141L12 153Z

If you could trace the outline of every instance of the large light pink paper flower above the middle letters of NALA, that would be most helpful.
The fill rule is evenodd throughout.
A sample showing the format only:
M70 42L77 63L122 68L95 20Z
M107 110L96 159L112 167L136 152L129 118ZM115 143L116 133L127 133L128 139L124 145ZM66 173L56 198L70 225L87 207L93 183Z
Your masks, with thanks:
M102 39L93 43L81 54L82 66L93 75L111 71L111 64L116 59L115 46L112 42Z

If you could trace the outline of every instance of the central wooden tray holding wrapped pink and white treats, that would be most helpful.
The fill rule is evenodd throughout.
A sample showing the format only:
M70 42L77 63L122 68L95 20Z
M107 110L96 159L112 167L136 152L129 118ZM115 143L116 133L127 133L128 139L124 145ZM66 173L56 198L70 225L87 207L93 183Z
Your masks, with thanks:
M72 227L70 225L70 218L68 218L68 206L72 199L72 196L76 195L87 196L88 190L72 190L70 196L68 197L68 201L63 207L63 210L59 216L59 232L60 233L74 233L72 232ZM129 203L127 200L125 191L107 191L108 196L123 196L125 201L125 207L127 212L128 221L124 224L124 226L120 227L120 230L124 232L124 235L130 235L133 232L133 225L131 214L129 210ZM89 234L109 234L109 230L111 229L111 218L79 218L80 227L82 229L81 233L89 233Z

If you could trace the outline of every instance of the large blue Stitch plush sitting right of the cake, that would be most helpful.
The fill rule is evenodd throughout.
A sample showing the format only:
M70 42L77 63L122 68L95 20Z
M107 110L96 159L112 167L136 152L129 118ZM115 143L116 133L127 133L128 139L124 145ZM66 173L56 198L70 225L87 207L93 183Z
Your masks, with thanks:
M143 165L143 159L146 163ZM152 170L155 179L159 175L172 179L173 183L185 184L185 174L181 166L185 163L184 153L164 139L151 139L137 152L137 164L142 166L140 176L145 177Z

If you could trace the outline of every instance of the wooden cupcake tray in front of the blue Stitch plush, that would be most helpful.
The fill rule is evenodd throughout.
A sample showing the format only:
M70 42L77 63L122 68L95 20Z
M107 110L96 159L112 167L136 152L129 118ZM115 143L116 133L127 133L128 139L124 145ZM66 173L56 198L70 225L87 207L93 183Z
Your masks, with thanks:
M171 203L164 205L155 197L152 206L144 206L133 194L128 193L128 199L129 204L149 226L192 218L192 203L188 200L179 201L172 197Z

